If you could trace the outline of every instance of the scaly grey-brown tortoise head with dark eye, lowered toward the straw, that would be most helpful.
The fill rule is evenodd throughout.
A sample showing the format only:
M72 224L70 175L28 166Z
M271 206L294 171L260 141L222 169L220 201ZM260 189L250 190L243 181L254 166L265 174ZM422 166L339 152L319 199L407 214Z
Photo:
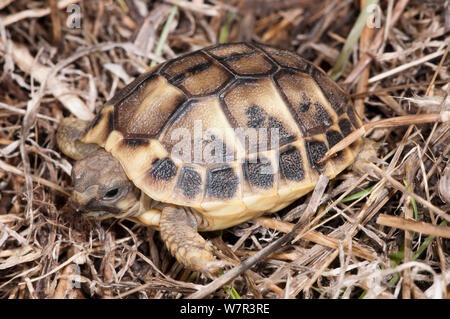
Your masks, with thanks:
M120 163L103 149L75 162L72 206L86 217L121 218L138 204L139 190Z

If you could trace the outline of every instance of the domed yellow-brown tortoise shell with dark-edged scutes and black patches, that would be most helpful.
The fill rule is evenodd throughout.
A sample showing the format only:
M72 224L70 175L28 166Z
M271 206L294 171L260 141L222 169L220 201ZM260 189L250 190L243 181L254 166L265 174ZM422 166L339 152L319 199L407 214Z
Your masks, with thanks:
M86 130L153 200L191 207L202 230L277 211L354 161L361 126L349 97L295 53L222 44L156 66L113 97ZM256 134L256 137L255 137Z

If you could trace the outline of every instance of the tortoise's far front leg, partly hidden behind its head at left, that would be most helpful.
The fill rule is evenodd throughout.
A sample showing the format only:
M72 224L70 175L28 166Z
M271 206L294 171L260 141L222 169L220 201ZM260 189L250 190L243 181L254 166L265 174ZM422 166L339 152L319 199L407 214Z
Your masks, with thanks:
M56 143L64 154L74 160L83 159L99 149L97 144L86 144L79 140L89 123L89 121L66 117L58 126Z

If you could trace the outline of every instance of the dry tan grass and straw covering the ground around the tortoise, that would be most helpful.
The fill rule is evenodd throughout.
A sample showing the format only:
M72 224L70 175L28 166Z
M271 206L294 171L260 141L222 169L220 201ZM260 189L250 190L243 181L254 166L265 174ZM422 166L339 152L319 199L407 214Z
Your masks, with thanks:
M206 234L228 262L255 262L212 283L170 257L158 232L81 220L67 205L63 116L91 118L152 61L219 39L270 43L331 70L361 2L0 0L0 297L231 298L217 289L231 279L242 298L448 298L448 122L376 129L378 159L364 173ZM71 4L80 28L67 25ZM365 28L338 82L365 122L448 111L448 1L380 5L382 28Z

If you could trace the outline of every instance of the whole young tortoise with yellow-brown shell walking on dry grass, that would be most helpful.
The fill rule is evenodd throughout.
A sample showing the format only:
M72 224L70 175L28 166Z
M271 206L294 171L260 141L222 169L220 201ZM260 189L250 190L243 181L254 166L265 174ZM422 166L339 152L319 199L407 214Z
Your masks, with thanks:
M362 138L319 160L361 125L319 67L287 50L230 43L153 67L90 122L63 119L57 143L77 160L71 201L84 216L156 227L181 264L216 274L221 264L198 232L277 212L321 174L334 178Z

